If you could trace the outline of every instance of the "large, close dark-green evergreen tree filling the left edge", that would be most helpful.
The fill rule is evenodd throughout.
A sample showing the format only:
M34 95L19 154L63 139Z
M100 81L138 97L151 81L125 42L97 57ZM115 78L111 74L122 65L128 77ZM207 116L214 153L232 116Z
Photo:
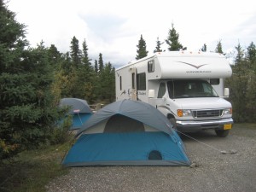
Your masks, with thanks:
M57 118L49 50L27 45L25 26L0 0L0 160L45 143Z

